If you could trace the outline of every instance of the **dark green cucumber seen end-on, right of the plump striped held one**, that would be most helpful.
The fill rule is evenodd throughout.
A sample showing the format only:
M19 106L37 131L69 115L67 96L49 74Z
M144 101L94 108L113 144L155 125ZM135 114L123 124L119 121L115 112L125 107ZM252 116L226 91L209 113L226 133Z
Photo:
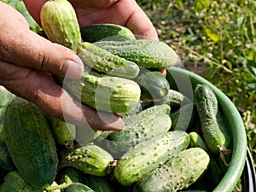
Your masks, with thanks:
M141 73L135 79L141 88L141 99L146 102L162 101L170 90L170 85L160 72Z

